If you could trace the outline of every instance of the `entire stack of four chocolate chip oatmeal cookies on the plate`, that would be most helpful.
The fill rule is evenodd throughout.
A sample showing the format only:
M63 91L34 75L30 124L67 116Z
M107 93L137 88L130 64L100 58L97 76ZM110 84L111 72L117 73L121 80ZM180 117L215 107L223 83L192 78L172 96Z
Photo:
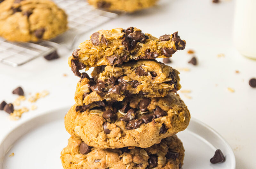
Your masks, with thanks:
M176 93L179 72L155 58L185 48L178 32L156 38L129 27L100 30L81 43L69 65L80 77L76 104L65 116L72 136L64 168L180 168L177 136L190 114ZM85 68L94 67L89 77Z

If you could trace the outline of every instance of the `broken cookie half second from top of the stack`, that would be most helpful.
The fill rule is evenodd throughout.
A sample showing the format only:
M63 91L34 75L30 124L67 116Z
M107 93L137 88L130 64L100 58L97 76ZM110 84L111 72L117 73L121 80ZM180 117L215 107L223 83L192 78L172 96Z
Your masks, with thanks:
M131 94L164 97L181 88L178 74L177 70L156 60L98 66L92 71L92 78L82 74L76 86L75 101L82 106L105 99L122 101Z

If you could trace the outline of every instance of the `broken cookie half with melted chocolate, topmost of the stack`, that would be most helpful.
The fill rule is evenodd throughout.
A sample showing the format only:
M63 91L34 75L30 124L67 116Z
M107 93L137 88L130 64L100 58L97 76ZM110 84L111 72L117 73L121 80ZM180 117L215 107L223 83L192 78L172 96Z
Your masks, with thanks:
M133 27L100 30L93 33L90 40L81 43L80 49L74 50L68 64L76 76L81 76L79 70L84 68L171 57L185 46L186 41L180 39L178 32L156 38Z

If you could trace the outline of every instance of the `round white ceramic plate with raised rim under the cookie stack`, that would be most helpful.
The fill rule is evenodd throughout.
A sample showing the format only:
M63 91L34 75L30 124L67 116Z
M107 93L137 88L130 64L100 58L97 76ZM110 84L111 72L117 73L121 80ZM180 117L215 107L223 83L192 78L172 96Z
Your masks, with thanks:
M0 144L0 169L61 169L60 152L68 143L64 127L68 108L48 112L25 122ZM235 169L235 156L228 143L213 129L191 119L188 128L177 134L185 147L183 169ZM221 149L226 161L211 164ZM9 157L11 153L13 157Z

